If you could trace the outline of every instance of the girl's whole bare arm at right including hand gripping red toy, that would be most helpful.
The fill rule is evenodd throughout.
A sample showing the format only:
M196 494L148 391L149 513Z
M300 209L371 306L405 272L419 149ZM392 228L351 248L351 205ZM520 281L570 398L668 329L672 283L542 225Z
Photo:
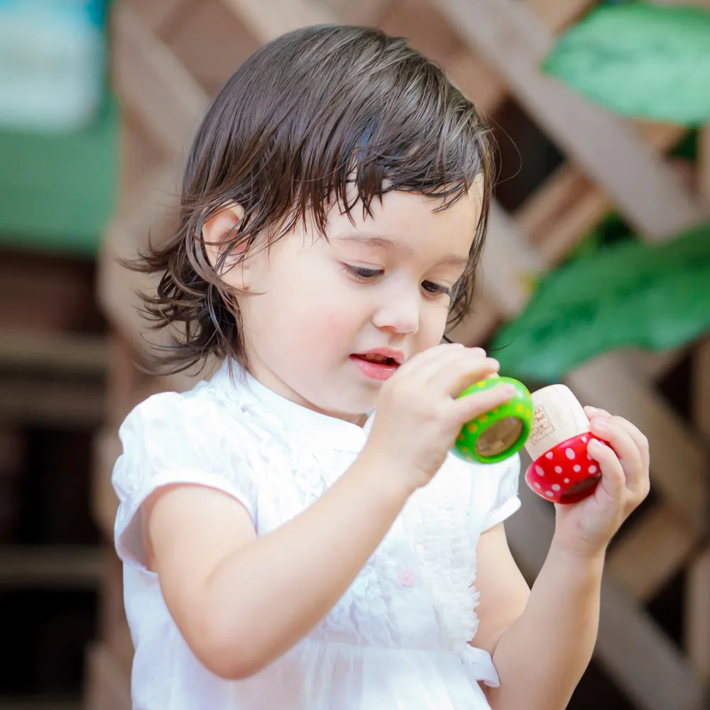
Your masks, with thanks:
M648 441L630 422L586 409L589 455L602 478L584 501L556 506L555 535L526 599L502 527L479 543L480 642L493 656L501 687L494 710L563 710L594 650L606 547L649 489ZM485 606L484 606L485 605ZM476 643L479 635L476 634Z

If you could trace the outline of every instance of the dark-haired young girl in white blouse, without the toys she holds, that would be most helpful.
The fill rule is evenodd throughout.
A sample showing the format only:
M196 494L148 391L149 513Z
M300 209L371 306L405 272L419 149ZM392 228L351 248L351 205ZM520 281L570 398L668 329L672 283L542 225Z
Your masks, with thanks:
M557 510L530 591L503 530L518 458L448 453L512 394L457 399L498 364L439 344L469 305L490 166L471 103L378 31L290 33L219 92L143 268L182 327L173 366L224 365L138 405L114 471L134 708L567 704L648 445L588 410L603 479Z

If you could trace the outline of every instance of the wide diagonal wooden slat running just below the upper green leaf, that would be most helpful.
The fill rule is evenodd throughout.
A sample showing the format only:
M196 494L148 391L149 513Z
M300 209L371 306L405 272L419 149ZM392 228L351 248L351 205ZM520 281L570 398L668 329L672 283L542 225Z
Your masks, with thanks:
M553 35L528 4L439 3L462 35L501 72L528 114L608 191L639 231L660 239L706 217L705 208L632 126L540 73L537 67L552 48Z

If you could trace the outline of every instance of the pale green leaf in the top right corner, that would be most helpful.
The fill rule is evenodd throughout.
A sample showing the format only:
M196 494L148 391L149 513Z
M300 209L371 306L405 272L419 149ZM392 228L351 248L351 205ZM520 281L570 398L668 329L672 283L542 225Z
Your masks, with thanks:
M710 121L710 10L599 6L559 38L547 74L624 116Z

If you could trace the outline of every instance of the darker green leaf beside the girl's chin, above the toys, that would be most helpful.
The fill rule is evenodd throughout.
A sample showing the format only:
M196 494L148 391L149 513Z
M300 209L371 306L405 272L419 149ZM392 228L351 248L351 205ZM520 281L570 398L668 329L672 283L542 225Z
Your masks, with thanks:
M665 244L618 244L551 273L491 348L502 373L553 382L608 350L666 350L709 329L705 224Z

